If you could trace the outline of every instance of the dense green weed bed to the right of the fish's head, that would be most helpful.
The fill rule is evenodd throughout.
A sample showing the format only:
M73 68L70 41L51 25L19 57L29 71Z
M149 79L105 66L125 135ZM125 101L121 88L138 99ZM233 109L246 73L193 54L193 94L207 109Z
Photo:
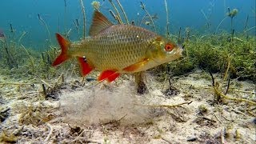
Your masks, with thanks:
M256 82L256 42L255 36L246 38L243 34L209 34L193 37L185 43L183 58L158 66L154 74L162 77L169 66L174 75L187 74L198 67L211 73L221 73L223 77ZM165 79L165 78L158 78Z

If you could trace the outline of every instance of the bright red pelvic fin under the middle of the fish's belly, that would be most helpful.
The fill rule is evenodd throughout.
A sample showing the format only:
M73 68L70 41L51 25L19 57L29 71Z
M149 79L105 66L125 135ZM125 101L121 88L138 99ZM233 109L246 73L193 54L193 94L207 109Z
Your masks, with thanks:
M98 77L98 81L104 81L105 79L107 82L112 82L116 78L118 78L120 74L115 70L104 70Z

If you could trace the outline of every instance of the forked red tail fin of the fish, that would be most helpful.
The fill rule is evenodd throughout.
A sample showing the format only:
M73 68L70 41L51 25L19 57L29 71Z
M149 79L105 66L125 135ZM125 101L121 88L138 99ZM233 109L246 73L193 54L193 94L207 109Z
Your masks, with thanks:
M65 62L70 56L67 54L68 47L70 46L70 42L62 37L61 34L56 34L56 38L58 40L59 46L61 46L62 52L59 54L58 58L55 59L52 66L57 66L62 62Z

